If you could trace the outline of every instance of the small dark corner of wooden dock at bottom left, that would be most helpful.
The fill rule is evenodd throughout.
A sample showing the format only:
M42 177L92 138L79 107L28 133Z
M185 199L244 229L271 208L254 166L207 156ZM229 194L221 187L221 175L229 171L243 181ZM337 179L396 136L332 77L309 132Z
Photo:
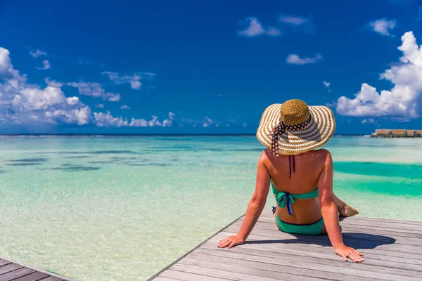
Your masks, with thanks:
M71 281L63 276L0 259L0 281Z

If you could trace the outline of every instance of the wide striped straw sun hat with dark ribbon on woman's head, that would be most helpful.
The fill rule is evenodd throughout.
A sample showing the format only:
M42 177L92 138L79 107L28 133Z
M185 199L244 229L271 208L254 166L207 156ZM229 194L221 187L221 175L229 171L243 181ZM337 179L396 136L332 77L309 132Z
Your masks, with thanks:
M257 138L275 156L297 155L326 144L334 130L334 115L329 107L287 100L264 110Z

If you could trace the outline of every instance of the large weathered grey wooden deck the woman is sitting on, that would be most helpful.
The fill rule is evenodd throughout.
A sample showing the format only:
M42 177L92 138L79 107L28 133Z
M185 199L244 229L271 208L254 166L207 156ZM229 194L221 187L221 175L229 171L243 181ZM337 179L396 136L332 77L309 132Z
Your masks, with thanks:
M219 240L236 235L242 221L243 216L149 280L422 280L422 222L345 218L345 244L364 254L364 263L354 263L335 256L327 235L282 233L269 210L245 244L217 248Z

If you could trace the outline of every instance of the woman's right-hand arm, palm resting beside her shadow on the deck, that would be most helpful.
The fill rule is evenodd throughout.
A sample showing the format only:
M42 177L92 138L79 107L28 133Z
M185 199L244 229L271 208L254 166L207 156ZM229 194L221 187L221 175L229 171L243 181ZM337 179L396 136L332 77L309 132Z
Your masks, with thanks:
M324 224L333 245L335 254L342 256L345 261L347 258L354 262L362 262L362 254L353 248L345 246L343 237L340 233L338 224L338 209L333 200L333 159L331 153L326 155L324 169L321 171L318 179L319 202L321 203L321 213L324 218Z

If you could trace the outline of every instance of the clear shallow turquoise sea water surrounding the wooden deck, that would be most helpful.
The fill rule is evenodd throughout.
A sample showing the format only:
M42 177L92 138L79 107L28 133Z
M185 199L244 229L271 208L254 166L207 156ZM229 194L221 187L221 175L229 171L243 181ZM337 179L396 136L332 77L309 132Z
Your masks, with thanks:
M362 216L422 221L422 139L324 148L335 193ZM145 280L245 212L262 149L252 136L0 137L0 256Z

